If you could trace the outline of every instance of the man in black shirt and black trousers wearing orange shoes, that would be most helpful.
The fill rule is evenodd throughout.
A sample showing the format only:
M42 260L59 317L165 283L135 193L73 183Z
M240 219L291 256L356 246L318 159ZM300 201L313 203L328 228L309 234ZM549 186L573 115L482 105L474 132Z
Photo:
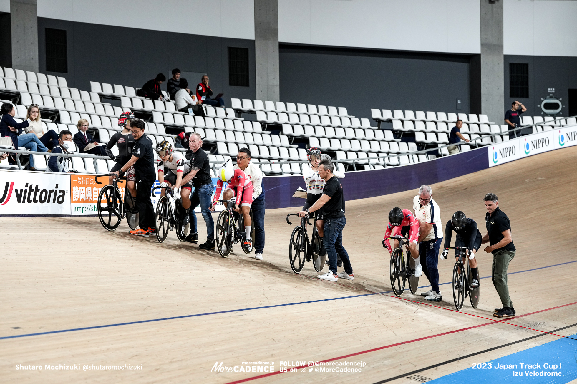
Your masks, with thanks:
M144 133L143 120L133 120L130 123L130 131L132 131L132 137L134 138L132 157L121 169L110 173L122 175L134 165L134 171L136 172L136 208L138 210L138 226L140 229L130 231L130 233L148 237L149 234L156 233L156 217L151 201L151 189L156 181L154 150L152 149L151 139Z

